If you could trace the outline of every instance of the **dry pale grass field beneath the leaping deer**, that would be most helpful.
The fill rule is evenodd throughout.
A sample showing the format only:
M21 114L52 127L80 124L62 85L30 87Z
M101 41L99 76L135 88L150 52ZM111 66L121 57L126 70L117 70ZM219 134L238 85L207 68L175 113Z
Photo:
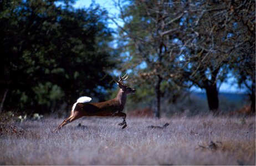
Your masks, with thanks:
M85 117L52 133L62 121L0 121L0 165L255 165L255 117Z

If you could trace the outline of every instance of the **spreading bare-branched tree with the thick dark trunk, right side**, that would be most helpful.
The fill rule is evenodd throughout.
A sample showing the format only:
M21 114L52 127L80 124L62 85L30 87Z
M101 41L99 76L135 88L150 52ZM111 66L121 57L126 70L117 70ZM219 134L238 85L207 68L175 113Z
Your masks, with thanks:
M218 110L217 84L220 85L226 80L231 70L238 69L234 63L238 59L243 59L244 48L250 49L250 53L255 54L254 46L250 44L255 43L255 33L254 35L251 33L252 38L248 39L244 35L245 28L240 27L245 20L247 23L254 21L255 8L252 3L255 2L194 1L193 3L190 5L196 8L189 11L195 13L187 19L187 23L191 22L188 32L194 32L196 38L193 39L189 47L190 54L186 58L190 61L186 68L186 76L198 87L206 90L209 109ZM244 9L247 9L247 12Z

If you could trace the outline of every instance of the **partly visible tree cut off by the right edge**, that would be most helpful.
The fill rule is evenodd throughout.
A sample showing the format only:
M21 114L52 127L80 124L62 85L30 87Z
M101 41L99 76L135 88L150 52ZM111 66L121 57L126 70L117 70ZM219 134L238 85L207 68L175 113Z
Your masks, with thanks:
M231 38L244 44L231 50L231 69L240 87L245 86L251 100L250 113L255 113L255 1L233 2ZM237 43L235 43L237 44ZM238 44L237 44L238 45Z

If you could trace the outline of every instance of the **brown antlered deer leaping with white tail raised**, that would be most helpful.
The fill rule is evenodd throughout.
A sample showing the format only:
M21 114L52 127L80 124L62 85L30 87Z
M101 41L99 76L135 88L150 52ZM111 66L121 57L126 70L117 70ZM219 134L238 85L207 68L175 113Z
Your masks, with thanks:
M66 118L66 120L63 121L56 129L54 129L54 131L57 131L66 124L73 122L74 120L77 120L78 118L83 116L122 117L123 121L118 125L123 126L122 129L124 129L127 126L125 121L126 114L122 112L122 110L124 110L125 107L126 96L128 94L135 94L136 91L135 89L131 89L130 87L122 84L122 81L126 80L128 77L128 75L126 75L127 74L125 74L123 77L119 75L119 81L116 81L113 78L117 85L120 87L120 90L114 99L104 102L90 103L90 97L83 96L78 98L78 100L74 103L72 107L70 117Z

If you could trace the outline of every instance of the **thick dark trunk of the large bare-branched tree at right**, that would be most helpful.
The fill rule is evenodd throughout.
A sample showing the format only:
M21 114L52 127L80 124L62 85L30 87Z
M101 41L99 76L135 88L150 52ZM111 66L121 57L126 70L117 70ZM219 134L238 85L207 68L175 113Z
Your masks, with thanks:
M205 89L206 89L209 110L213 111L214 113L217 113L219 108L217 85L216 84L206 85Z

